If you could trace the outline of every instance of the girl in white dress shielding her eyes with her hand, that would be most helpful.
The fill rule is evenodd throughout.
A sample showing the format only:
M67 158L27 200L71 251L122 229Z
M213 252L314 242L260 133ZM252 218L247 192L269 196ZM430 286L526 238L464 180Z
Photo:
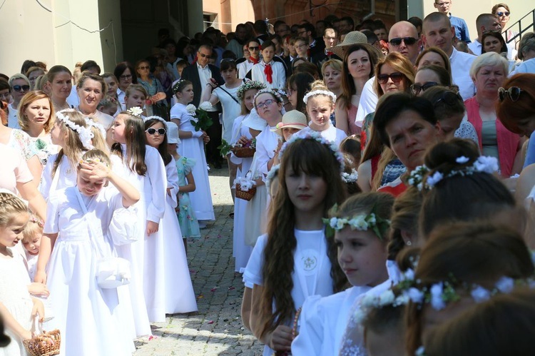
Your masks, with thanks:
M116 288L97 283L98 261L112 256L106 239L113 211L128 208L140 195L111 171L100 150L85 153L77 167L76 186L50 195L44 235L51 240L47 286L54 310L51 327L61 331L62 355L131 355L128 327ZM106 183L110 183L105 188Z

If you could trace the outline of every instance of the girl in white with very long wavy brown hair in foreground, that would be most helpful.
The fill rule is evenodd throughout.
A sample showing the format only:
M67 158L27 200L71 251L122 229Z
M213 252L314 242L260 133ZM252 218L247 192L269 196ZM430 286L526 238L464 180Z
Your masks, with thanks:
M326 297L347 284L322 222L343 199L342 156L319 135L296 133L281 159L267 234L258 238L243 274L242 319L265 343L263 355L290 351L295 313L306 297Z

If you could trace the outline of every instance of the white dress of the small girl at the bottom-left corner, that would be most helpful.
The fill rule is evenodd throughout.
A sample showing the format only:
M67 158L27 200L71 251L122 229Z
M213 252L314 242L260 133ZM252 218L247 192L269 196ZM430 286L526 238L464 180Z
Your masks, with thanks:
M34 306L28 292L30 278L22 256L10 248L7 250L13 258L0 255L0 302L22 327L30 330L31 309ZM22 341L8 330L6 334L11 337L11 343L0 348L0 356L26 355Z

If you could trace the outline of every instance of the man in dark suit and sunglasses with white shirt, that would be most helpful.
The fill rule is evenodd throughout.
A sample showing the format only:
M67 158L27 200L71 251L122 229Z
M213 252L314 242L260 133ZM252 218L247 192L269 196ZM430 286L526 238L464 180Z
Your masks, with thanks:
M210 56L212 56L212 51L213 48L210 44L201 44L197 51L197 61L190 66L185 67L182 72L181 78L193 83L192 103L197 108L200 104L200 96L203 93L203 89L209 85L210 78L214 78L219 85L225 83L219 68L208 64L208 60L210 59ZM219 122L219 111L208 112L210 118L212 118L213 125L208 128L206 132L208 133L208 136L210 136L210 141L206 144L206 160L208 163L212 163L215 168L221 168L221 162L223 161L218 150L218 146L221 144L223 129Z

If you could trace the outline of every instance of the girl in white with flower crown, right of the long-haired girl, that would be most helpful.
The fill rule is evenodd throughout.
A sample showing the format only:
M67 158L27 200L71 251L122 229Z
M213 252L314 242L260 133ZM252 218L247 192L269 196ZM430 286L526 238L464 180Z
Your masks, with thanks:
M394 197L387 193L362 193L331 212L329 225L335 230L338 263L353 287L329 297L315 295L305 300L292 355L338 355L353 302L388 278L393 203Z

